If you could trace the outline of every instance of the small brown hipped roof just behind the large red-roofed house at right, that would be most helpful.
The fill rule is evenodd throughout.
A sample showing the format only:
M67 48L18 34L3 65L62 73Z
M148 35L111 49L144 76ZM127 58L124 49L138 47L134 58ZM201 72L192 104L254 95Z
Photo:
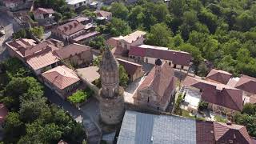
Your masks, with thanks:
M227 82L229 82L231 77L232 74L223 70L216 69L210 70L210 73L206 76L207 79L210 79L214 82L220 82L222 84L226 84Z

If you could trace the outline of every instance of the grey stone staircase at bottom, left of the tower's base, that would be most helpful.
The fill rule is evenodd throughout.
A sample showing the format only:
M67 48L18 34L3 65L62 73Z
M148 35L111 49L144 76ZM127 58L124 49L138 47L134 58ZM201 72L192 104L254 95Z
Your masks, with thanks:
M98 128L98 126L94 122L90 121L90 119L84 120L83 125L86 128L87 143L100 144L102 139L102 131Z

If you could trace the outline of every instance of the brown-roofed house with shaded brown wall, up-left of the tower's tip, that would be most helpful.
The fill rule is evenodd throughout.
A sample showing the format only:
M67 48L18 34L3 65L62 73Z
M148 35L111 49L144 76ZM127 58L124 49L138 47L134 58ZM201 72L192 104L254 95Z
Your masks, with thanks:
M93 54L89 46L70 44L62 49L55 50L54 54L64 61L69 61L71 65L79 66L85 64L89 66L93 61Z

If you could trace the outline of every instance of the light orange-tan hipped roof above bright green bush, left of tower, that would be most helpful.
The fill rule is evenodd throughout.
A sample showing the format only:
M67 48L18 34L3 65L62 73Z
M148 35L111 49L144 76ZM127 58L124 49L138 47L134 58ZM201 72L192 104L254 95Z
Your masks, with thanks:
M42 77L53 83L60 90L80 80L77 74L66 66L57 66L54 69L48 70L42 74Z

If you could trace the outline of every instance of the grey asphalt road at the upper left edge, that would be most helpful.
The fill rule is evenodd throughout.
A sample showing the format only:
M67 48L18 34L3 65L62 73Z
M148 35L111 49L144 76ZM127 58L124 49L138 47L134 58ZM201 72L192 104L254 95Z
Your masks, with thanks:
M10 41L12 34L18 31L20 26L14 18L9 17L7 14L2 12L0 13L0 25L3 26L6 31L6 35L0 37L0 61L2 61L8 57L5 42Z

